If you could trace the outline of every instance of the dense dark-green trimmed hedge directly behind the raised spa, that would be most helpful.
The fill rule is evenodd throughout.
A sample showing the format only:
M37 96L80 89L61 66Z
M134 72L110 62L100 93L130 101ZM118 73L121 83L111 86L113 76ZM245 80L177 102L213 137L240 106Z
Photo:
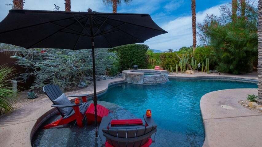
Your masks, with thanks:
M119 54L121 70L132 68L133 65L138 65L139 69L146 69L147 50L149 47L146 44L128 44L111 49Z

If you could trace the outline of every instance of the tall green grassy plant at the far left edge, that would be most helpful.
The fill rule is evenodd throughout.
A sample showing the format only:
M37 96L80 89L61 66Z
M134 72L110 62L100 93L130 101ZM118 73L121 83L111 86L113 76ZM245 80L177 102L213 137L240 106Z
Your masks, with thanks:
M13 68L0 66L0 114L13 110L11 105L14 93L11 84L7 81L14 72ZM10 79L9 79L10 80Z

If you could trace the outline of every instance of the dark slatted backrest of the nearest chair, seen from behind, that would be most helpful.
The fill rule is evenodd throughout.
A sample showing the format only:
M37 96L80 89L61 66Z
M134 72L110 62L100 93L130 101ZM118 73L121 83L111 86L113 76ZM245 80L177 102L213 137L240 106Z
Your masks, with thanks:
M137 128L109 127L102 129L109 144L114 147L140 147L156 132L157 126L137 126Z

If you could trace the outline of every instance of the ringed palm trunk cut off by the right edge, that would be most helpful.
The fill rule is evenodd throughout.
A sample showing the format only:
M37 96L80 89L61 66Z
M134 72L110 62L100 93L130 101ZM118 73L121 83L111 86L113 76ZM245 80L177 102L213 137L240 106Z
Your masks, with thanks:
M262 105L262 0L258 1L258 100L257 103Z

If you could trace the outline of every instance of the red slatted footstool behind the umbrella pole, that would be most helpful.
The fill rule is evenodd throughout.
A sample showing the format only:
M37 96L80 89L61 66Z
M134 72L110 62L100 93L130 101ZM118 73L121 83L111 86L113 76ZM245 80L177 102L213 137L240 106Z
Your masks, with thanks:
M102 106L102 105L96 105L96 111L97 111L97 122L101 122L102 118L104 116L108 116L109 110ZM95 121L95 106L94 104L90 104L87 111L85 112L85 115L88 120Z

